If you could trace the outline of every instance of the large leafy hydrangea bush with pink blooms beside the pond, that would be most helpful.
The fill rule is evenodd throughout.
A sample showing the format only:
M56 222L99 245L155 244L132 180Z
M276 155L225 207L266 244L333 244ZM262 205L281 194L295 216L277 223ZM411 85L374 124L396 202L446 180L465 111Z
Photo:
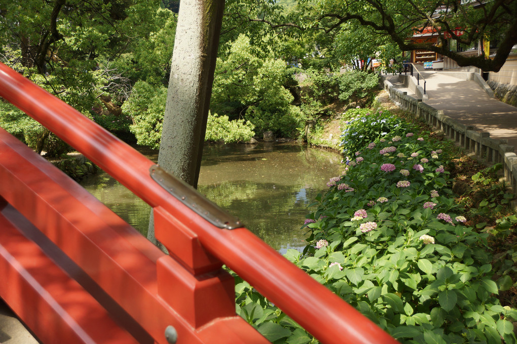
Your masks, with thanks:
M496 298L512 283L493 279L488 234L464 225L442 150L407 134L351 150L363 159L330 179L309 244L285 257L403 343L515 343L517 311ZM237 290L238 312L269 340L315 342L246 282Z

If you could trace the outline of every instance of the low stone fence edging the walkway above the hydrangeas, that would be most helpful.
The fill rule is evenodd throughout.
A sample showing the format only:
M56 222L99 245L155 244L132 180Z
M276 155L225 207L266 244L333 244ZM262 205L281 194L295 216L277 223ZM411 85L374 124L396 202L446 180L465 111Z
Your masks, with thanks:
M384 80L384 89L397 106L413 112L441 130L467 152L473 152L487 164L503 163L505 178L512 190L517 191L517 155L514 147L507 144L507 140L492 139L488 132L477 132L473 126L458 123L449 116L445 116L443 110L437 110L422 103L422 100L407 95L407 92L394 88L388 80Z

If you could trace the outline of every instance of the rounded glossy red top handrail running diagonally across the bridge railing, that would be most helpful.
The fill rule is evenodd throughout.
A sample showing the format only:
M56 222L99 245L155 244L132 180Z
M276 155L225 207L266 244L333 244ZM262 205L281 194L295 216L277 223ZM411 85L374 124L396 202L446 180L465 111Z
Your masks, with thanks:
M0 63L0 95L49 128L151 207L183 223L203 247L324 343L397 343L246 228L225 230L195 214L149 175L152 161Z

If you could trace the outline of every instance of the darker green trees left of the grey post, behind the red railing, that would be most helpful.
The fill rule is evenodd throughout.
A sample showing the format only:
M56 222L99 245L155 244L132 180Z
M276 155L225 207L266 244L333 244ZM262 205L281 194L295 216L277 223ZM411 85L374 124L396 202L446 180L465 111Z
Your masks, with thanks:
M0 13L0 60L85 116L95 109L97 122L107 129L127 132L129 119L120 116L120 106L132 84L143 79L162 85L168 76L176 15L160 3L6 3ZM36 150L62 153L64 144L46 129L22 117L11 116L9 122Z

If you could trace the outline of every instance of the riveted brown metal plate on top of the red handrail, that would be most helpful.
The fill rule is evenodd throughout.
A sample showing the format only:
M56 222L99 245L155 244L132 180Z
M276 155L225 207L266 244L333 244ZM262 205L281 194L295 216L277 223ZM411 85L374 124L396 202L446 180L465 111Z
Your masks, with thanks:
M208 200L181 179L166 172L159 165L151 166L149 171L151 178L153 178L156 183L214 226L227 230L244 227L239 219L228 214L226 210Z

